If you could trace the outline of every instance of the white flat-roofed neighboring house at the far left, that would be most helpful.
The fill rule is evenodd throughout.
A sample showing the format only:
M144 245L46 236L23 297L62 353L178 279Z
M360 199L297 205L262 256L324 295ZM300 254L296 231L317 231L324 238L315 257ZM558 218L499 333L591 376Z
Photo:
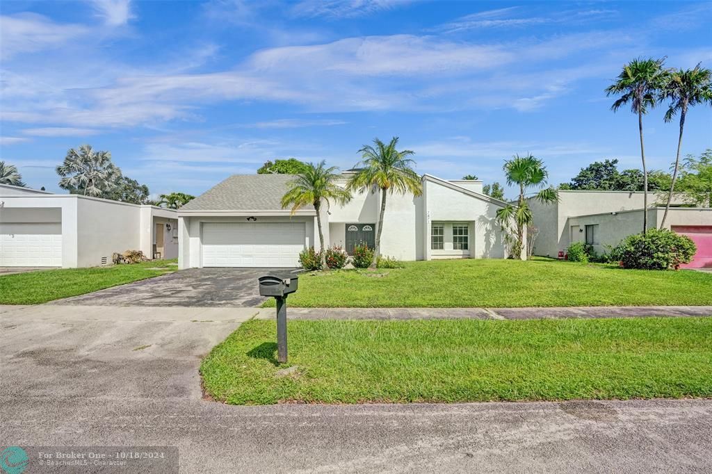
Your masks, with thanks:
M177 212L0 184L0 266L90 267L114 252L178 256Z

